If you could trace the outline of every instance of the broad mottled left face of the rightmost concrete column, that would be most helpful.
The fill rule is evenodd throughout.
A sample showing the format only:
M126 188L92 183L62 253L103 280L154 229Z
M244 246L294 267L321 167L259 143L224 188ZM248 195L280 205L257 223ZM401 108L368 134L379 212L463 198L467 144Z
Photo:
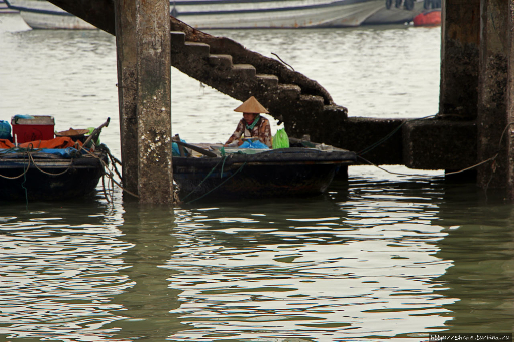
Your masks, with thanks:
M480 51L479 106L477 118L478 160L498 153L492 163L478 168L478 185L483 188L508 186L507 140L507 79L509 51L508 31L511 30L512 0L482 0L482 36ZM510 55L510 56L509 56Z

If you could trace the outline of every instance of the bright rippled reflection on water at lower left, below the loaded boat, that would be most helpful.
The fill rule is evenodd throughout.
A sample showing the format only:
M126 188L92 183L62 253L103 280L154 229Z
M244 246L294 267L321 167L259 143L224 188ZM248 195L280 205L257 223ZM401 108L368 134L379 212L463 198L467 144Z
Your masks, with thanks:
M120 215L101 207L8 206L0 211L2 334L103 340L121 309L109 298L133 286L120 276ZM9 214L10 212L10 214ZM13 215L12 213L18 214ZM74 333L77 331L77 333ZM78 340L78 339L77 339Z

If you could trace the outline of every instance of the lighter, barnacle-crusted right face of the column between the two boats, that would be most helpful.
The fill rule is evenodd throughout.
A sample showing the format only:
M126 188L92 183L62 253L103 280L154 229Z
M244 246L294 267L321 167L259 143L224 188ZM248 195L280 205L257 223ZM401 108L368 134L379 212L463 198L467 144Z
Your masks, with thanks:
M172 203L170 2L136 0L136 33L139 202Z

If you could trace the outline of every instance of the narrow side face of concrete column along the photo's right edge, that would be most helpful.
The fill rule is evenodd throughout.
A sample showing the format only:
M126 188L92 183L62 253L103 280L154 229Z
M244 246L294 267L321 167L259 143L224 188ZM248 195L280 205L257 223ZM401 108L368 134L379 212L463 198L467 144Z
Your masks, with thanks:
M509 0L509 26L507 29L508 39L508 78L507 78L507 117L508 123L514 123L514 0ZM514 126L510 125L506 132L507 139L507 190L510 199L514 199Z

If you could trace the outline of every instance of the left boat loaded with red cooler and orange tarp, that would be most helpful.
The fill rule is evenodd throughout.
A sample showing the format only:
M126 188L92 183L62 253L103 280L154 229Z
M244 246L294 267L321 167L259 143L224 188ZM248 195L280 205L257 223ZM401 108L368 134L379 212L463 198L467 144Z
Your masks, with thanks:
M110 121L107 118L83 140L89 130L69 129L53 138L51 116L13 116L14 143L9 137L0 139L0 201L63 200L93 192L108 165L109 151L98 137ZM34 130L42 133L42 138L23 141L23 132Z

